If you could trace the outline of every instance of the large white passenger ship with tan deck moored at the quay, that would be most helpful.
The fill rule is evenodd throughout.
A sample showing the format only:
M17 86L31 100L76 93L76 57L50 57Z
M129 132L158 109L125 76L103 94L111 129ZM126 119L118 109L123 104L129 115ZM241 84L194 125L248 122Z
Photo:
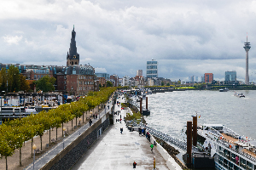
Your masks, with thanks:
M256 140L242 137L221 124L204 124L198 128L198 135L201 148L214 158L216 169L256 169Z

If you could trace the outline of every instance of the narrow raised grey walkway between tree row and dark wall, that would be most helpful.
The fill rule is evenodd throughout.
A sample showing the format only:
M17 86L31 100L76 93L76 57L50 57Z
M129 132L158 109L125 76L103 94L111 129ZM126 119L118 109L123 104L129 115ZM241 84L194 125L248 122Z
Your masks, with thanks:
M109 109L108 109L109 105ZM102 110L100 113L100 117L104 116L108 111L111 110L112 102L109 102L109 104L106 105L105 110ZM92 124L98 121L99 119L91 119ZM41 167L44 167L44 165L50 161L52 158L54 158L61 150L63 150L68 144L71 144L75 139L79 137L80 134L84 133L88 128L90 127L89 123L86 123L84 126L80 127L76 132L72 133L71 135L67 136L66 139L63 139L59 144L55 145L54 148L46 152L43 156L38 158L38 160L35 161L34 169L40 169ZM26 170L33 169L33 163L30 164L28 167L25 168Z

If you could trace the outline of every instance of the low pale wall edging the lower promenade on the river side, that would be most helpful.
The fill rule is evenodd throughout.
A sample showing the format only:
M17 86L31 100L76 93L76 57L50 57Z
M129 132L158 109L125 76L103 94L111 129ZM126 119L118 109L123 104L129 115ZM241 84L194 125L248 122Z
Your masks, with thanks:
M161 156L163 156L164 159L166 160L166 166L169 169L182 170L182 168L177 164L177 162L172 158L172 156L170 156L168 152L160 144L156 142L152 135L150 135L150 138L151 143L156 145L156 149L160 152Z

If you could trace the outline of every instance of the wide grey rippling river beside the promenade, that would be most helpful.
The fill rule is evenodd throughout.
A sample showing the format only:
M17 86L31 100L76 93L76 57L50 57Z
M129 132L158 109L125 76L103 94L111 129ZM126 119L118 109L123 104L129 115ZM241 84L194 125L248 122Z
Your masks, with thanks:
M182 129L187 121L197 119L204 123L223 124L241 136L256 139L256 91L239 91L245 98L234 96L235 91L174 91L149 94L150 116L145 117L148 126L163 133L183 139ZM145 100L143 100L145 103Z

